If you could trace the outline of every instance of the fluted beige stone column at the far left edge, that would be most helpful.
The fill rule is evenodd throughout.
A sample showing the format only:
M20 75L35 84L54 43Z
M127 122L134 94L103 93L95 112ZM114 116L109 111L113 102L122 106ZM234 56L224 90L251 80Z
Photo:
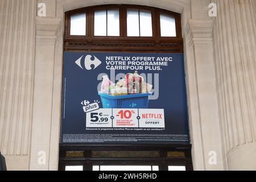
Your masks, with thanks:
M8 170L30 160L36 0L0 1L0 151Z

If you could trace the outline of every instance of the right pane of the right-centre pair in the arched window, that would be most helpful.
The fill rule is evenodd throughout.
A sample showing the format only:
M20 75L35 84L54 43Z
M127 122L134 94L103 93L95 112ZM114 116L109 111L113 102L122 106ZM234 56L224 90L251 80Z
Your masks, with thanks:
M150 11L139 11L141 36L152 36L152 19Z

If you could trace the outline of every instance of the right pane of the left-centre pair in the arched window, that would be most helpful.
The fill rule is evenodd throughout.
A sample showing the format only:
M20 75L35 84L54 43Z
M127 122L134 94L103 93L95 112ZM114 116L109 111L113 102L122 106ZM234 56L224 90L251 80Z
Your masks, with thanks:
M119 36L119 10L108 10L108 36Z

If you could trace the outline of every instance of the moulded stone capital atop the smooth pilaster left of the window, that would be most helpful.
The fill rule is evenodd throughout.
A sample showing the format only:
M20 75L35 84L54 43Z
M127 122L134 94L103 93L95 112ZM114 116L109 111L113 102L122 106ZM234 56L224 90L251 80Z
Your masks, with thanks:
M60 30L60 18L36 17L36 44L55 45Z

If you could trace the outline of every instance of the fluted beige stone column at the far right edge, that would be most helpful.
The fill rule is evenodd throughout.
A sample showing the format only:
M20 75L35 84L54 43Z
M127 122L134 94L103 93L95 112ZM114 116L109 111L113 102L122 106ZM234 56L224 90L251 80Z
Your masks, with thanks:
M230 170L256 170L256 13L254 0L216 0L214 51Z

